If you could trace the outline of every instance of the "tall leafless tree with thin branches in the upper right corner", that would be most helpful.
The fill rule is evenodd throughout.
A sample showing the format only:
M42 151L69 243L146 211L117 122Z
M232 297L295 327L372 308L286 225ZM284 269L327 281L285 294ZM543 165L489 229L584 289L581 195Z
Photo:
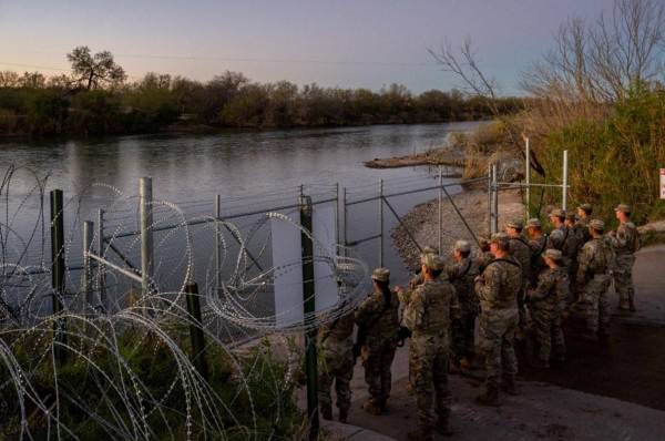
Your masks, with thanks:
M548 100L621 100L634 84L659 78L664 51L665 2L615 0L610 17L564 23L554 48L523 74L522 88Z

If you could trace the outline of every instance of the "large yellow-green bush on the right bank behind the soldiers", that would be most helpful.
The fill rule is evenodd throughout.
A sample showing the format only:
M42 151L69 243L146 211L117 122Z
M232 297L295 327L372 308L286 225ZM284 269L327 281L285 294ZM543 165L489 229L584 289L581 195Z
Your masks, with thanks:
M658 168L665 167L665 93L635 86L602 121L581 120L555 130L539 150L550 176L560 183L561 157L569 151L571 206L590 202L594 216L616 225L613 207L634 207L645 223L665 215Z

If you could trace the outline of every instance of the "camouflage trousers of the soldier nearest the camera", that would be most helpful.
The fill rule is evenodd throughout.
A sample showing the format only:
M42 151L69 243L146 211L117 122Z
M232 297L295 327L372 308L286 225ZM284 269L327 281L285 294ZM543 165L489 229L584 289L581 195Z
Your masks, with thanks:
M434 428L437 418L450 416L448 347L446 335L413 336L409 342L409 378L421 428Z

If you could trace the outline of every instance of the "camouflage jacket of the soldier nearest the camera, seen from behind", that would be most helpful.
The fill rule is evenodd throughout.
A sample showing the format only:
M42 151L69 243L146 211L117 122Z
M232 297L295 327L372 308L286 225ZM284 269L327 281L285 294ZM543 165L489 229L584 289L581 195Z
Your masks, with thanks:
M402 325L413 337L448 335L452 318L459 315L454 287L446 280L424 280L412 293L405 309Z

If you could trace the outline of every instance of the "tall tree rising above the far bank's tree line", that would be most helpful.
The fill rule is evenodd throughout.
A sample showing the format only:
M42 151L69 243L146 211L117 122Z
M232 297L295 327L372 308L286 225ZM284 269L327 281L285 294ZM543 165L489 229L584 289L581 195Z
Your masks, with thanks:
M115 63L113 54L109 51L92 55L90 48L80 45L68 53L66 59L72 63L74 81L80 88L86 90L122 84L127 76L124 70Z

